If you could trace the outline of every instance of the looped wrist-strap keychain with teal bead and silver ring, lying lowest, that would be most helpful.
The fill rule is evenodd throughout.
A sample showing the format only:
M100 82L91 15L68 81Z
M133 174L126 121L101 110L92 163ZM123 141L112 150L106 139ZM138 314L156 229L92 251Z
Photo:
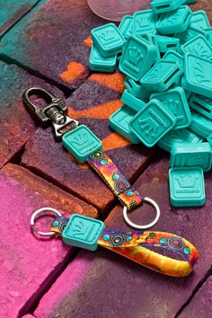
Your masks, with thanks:
M41 232L35 226L38 216L55 217L49 226L49 232ZM62 216L55 208L40 208L31 215L33 233L44 236L62 236L64 243L95 251L98 245L116 252L131 261L135 261L148 269L153 269L164 275L184 277L190 274L199 254L196 248L181 236L164 232L119 232L105 228L102 221L78 214L70 218ZM160 247L180 254L184 261L163 256L146 247Z

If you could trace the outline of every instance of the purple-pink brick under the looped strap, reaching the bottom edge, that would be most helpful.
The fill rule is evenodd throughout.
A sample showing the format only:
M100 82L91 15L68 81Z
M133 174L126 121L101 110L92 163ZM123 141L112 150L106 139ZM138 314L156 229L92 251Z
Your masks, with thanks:
M35 315L40 318L174 317L212 264L209 175L206 184L208 200L204 208L171 208L165 158L152 164L135 183L136 189L155 199L161 207L161 218L154 230L180 234L198 248L199 261L189 277L165 277L102 249L81 252L42 298ZM147 211L150 209L143 208L131 218L145 223L150 220ZM128 228L122 220L121 208L115 208L106 223L110 229Z

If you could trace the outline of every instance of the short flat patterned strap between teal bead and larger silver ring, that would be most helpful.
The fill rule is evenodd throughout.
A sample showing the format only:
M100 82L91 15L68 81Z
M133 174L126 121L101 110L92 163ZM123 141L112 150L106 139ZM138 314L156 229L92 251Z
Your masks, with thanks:
M143 202L143 198L133 189L128 179L120 172L115 163L111 161L108 155L97 151L87 157L87 162L107 183L113 193L119 198L121 204L128 210L137 208Z

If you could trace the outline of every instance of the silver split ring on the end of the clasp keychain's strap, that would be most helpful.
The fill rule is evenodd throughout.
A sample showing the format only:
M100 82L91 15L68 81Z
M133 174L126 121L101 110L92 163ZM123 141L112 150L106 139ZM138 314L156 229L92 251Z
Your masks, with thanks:
M130 221L128 218L128 208L127 207L123 208L123 217L124 217L125 222L129 226L136 228L137 230L146 230L147 228L154 226L158 222L159 217L160 217L160 208L158 207L158 205L156 204L156 202L153 199L146 197L143 199L143 201L147 202L151 206L153 206L155 208L155 212L156 212L155 220L152 223L149 223L148 225L137 225L136 223Z

